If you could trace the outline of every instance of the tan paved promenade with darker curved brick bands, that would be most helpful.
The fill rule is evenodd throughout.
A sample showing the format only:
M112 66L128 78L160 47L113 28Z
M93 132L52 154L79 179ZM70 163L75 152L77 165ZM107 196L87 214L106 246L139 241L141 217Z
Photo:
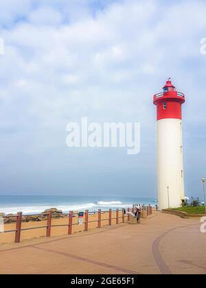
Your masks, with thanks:
M155 213L70 237L0 245L0 274L206 274L198 220Z

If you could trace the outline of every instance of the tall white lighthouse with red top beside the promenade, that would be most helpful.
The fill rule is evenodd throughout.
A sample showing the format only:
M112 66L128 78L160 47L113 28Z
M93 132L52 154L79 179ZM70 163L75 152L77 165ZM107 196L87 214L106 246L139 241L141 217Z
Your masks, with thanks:
M177 208L185 200L181 106L185 95L169 80L154 96L157 106L157 187L159 210Z

